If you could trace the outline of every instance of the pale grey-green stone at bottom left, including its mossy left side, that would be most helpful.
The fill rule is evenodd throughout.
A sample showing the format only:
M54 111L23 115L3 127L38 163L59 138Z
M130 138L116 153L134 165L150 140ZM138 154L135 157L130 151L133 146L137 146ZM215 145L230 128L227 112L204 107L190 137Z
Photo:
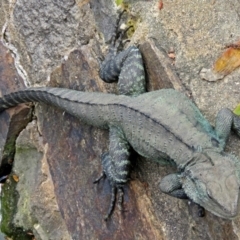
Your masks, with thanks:
M36 121L16 141L13 170L2 196L2 229L13 239L71 239L56 202L47 148Z

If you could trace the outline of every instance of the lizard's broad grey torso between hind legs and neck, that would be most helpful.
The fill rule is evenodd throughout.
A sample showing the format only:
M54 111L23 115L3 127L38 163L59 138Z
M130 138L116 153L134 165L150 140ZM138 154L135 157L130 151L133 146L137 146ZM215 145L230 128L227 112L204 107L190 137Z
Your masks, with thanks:
M182 93L162 89L128 103L121 122L127 140L141 155L186 164L199 148L212 148L218 137L198 108ZM214 144L213 144L214 143Z

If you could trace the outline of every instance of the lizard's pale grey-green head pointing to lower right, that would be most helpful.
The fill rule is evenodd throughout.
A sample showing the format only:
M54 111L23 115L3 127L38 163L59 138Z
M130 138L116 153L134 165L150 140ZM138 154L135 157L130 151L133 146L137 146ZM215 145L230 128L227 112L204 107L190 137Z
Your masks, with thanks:
M199 153L186 166L182 187L187 196L213 214L231 219L238 214L240 160L222 152Z

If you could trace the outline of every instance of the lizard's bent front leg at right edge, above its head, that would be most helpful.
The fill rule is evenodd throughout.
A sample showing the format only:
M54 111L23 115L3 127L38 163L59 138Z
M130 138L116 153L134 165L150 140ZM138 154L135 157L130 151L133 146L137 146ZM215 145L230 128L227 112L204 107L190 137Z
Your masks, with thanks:
M219 137L223 149L227 143L231 129L240 137L240 117L230 109L221 109L216 117L215 131Z

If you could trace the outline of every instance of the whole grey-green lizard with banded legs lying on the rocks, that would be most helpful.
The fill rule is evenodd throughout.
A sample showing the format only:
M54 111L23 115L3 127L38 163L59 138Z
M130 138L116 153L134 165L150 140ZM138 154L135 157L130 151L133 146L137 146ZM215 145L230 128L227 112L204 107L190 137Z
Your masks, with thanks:
M112 186L105 219L113 211L117 193L121 208L123 187L129 181L130 146L145 158L175 164L177 172L160 182L162 192L190 199L216 216L234 218L238 214L240 160L224 148L231 130L240 136L240 117L223 108L213 127L183 93L174 89L146 92L139 49L120 49L124 32L113 35L100 66L104 81L118 82L118 95L31 87L0 98L0 112L19 103L40 102L109 129L109 151L101 156L103 173L95 181L106 177Z

